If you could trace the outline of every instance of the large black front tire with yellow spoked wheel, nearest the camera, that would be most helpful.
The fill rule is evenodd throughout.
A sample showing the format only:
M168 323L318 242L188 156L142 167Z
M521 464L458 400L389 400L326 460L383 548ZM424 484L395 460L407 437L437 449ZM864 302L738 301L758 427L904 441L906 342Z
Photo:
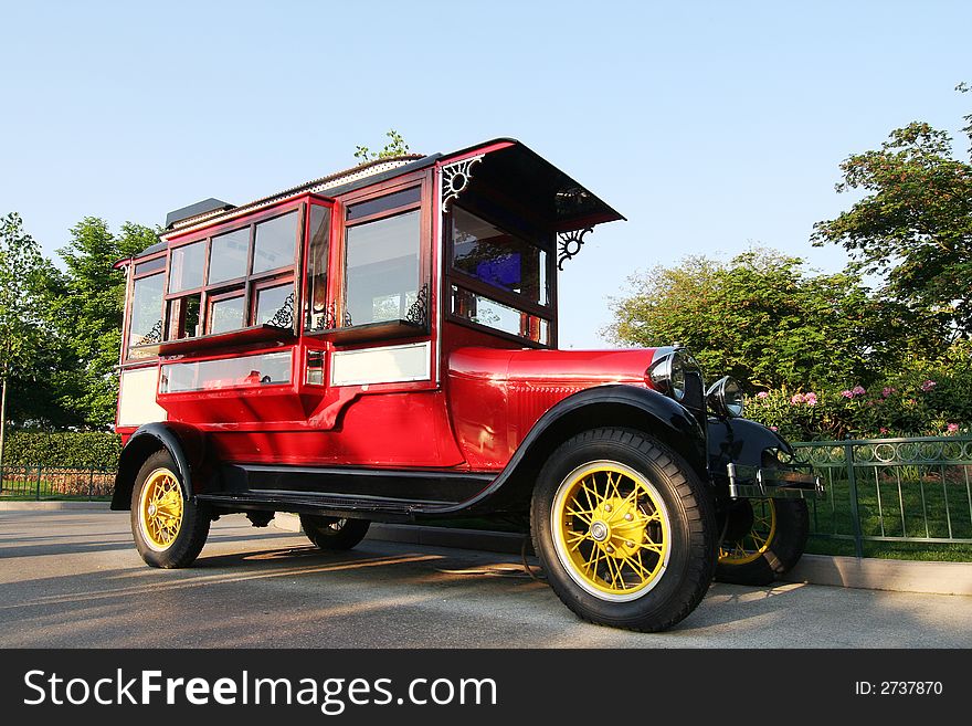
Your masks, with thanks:
M592 429L559 446L533 490L530 532L553 591L596 624L670 628L698 606L716 568L710 493L680 455L641 431Z

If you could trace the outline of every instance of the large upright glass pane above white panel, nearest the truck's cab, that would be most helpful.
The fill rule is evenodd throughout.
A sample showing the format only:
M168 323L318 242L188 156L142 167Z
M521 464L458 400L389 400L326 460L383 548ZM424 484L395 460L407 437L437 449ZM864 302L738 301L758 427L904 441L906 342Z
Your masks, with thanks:
M403 319L419 290L419 211L348 228L346 325Z

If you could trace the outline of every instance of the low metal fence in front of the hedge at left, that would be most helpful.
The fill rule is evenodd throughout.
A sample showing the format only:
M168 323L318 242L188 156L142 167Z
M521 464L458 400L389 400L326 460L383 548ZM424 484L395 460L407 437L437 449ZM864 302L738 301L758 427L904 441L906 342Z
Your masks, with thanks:
M0 470L0 499L108 499L115 472L96 469L4 466Z

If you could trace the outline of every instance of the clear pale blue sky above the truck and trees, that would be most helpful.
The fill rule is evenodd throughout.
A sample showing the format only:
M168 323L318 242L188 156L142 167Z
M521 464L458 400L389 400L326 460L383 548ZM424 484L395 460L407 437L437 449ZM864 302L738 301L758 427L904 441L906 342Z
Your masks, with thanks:
M0 1L0 213L47 254L85 215L160 223L352 166L513 136L630 221L561 278L561 344L604 347L627 275L752 244L825 271L837 165L972 111L969 2Z

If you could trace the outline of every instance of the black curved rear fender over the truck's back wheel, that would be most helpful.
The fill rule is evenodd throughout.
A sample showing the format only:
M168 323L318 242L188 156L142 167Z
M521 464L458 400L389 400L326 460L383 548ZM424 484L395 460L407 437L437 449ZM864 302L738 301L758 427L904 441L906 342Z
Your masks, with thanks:
M146 423L128 439L118 459L118 473L115 475L115 493L112 495L113 509L131 508L131 488L135 477L145 460L157 451L171 454L187 501L201 491L205 481L205 438L199 429L177 421Z

